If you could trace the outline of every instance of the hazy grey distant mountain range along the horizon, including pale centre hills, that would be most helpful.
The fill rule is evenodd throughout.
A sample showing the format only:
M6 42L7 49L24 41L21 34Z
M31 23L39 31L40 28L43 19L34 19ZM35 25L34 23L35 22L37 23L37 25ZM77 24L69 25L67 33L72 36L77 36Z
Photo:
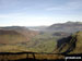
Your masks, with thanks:
M50 26L32 26L27 28L32 30L38 30L38 32L75 33L82 30L82 22L66 22L66 23L52 24Z

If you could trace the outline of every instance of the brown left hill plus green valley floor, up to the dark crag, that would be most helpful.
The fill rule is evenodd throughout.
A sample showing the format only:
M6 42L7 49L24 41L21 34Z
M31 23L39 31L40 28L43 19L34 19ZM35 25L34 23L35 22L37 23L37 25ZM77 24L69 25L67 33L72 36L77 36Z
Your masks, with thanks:
M2 33L3 32L3 33ZM52 52L57 47L57 40L67 37L68 33L39 33L38 35L32 36L31 38L23 35L23 33L16 30L2 30L0 39L0 51L34 51L34 52ZM10 33L8 33L10 32ZM15 32L15 33L13 33ZM28 36L31 33L27 33ZM27 39L30 38L30 40ZM5 44L5 45L4 45ZM7 47L4 49L4 47Z

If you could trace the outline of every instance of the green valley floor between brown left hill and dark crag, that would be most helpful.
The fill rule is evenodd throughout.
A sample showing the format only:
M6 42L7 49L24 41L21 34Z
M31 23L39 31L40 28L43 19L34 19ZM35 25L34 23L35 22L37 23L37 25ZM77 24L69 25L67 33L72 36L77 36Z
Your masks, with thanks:
M57 40L67 36L68 34L61 32L42 33L26 42L26 47L27 49L37 52L52 52L57 47Z

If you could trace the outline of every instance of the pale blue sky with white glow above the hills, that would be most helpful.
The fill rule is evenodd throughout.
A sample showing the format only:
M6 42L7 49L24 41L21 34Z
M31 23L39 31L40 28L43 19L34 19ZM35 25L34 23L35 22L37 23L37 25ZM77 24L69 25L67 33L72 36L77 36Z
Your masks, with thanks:
M0 26L82 22L82 0L0 0Z

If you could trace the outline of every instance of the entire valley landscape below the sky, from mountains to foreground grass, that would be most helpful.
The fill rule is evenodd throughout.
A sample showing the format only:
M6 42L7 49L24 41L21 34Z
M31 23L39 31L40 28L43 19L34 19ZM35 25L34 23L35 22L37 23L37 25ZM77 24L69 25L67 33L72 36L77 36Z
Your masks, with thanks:
M14 56L16 54L17 60L19 58L26 59L27 54L30 58L33 58L33 56L30 56L30 52L31 54L34 54L35 58L37 59L40 58L40 60L44 60L43 56L46 57L45 58L46 60L47 59L56 60L56 59L63 59L66 57L65 54L81 54L82 25L81 23L80 24L72 23L70 32L68 32L69 30L68 27L70 24L71 23L62 24L65 25L65 28L67 27L66 32L65 29L61 29L63 26L60 26L60 24L51 25L42 30L38 27L37 27L38 30L31 28L28 29L28 27L21 27L21 26L0 27L0 52L3 52L4 54L5 52L11 53L10 56L12 56L12 60L15 60ZM75 26L73 24L75 24ZM71 28L74 28L77 30L73 30L72 33ZM24 56L23 54L19 56L19 52L27 52L27 54L24 53ZM12 53L16 54L13 56ZM4 58L3 56L0 57L1 57L0 59ZM8 54L5 54L5 57L10 58Z

